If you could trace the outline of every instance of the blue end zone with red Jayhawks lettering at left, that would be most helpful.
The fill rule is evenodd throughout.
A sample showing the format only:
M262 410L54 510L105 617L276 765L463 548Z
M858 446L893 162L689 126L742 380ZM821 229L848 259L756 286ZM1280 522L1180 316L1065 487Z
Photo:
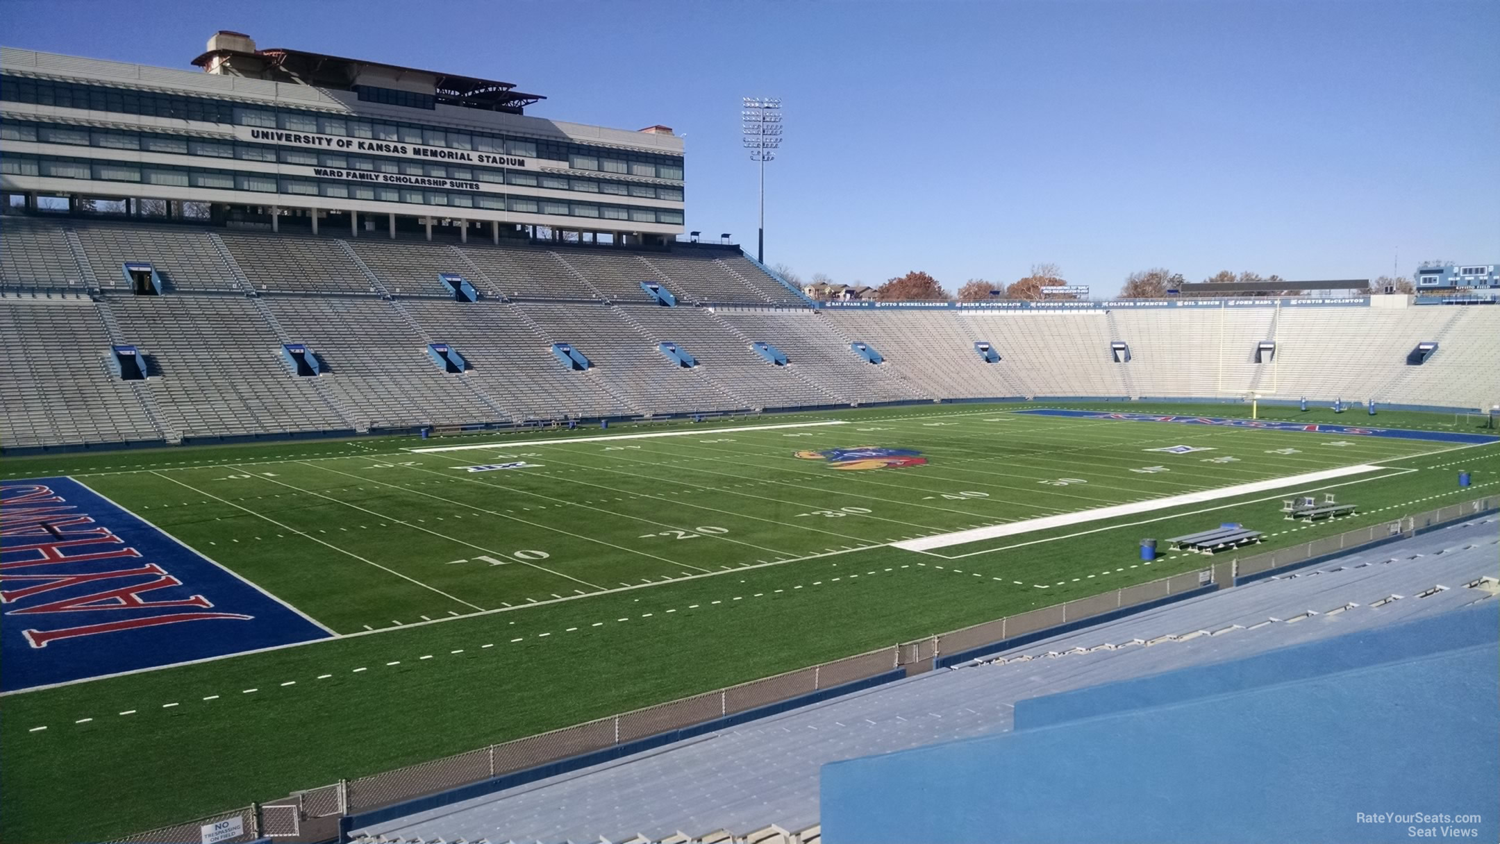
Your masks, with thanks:
M70 478L0 483L0 691L332 636Z

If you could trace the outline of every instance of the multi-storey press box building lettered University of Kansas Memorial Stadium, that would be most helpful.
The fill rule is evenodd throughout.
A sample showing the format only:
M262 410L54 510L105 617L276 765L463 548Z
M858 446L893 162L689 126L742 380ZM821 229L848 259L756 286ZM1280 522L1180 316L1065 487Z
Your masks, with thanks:
M532 117L544 97L510 82L258 49L230 31L192 63L202 70L0 48L4 201L354 237L682 232L682 139L664 126Z

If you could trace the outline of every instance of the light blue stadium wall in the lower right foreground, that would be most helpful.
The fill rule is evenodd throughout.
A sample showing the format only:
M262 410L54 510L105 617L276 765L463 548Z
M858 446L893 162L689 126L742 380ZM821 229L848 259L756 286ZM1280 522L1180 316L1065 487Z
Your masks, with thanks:
M1492 841L1497 627L1491 601L1023 702L1012 733L825 765L822 840Z

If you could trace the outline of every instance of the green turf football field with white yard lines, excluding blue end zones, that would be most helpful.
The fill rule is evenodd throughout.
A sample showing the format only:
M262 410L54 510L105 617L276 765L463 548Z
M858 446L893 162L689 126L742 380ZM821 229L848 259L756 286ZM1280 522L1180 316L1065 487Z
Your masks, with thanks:
M1142 537L1233 520L1274 549L1500 480L1492 445L1018 408L4 459L4 478L70 475L342 636L0 697L0 837L136 832L1204 565L1143 564ZM1450 414L1262 411L1480 432ZM806 427L765 427L792 424ZM474 448L412 451L453 445ZM856 445L927 463L796 456ZM1173 445L1202 451L1150 451ZM531 466L466 471L508 462ZM928 553L891 546L1354 465L1378 469ZM1474 487L1456 487L1460 468ZM1360 514L1284 522L1281 499L1312 490Z

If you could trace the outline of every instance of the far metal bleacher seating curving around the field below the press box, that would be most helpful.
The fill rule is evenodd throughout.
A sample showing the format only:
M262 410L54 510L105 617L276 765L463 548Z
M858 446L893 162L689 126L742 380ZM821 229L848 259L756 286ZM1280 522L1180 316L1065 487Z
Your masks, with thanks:
M753 261L696 244L390 241L16 214L0 237L3 327L22 349L0 376L4 448L930 399L1500 402L1500 307L1376 297L1358 307L816 312ZM165 295L132 294L120 265L135 261L160 273ZM466 277L482 300L452 301L440 273ZM678 306L656 304L644 280ZM885 361L864 361L855 340ZM1000 360L984 363L976 340ZM1114 363L1112 340L1130 343L1131 363ZM1268 363L1254 363L1260 340L1276 343ZM1408 364L1425 340L1438 351ZM326 373L294 376L286 342L308 343ZM441 372L426 355L434 342L453 343L471 370ZM596 366L566 369L554 342ZM698 366L675 366L662 342ZM136 345L150 378L122 384L111 343Z

